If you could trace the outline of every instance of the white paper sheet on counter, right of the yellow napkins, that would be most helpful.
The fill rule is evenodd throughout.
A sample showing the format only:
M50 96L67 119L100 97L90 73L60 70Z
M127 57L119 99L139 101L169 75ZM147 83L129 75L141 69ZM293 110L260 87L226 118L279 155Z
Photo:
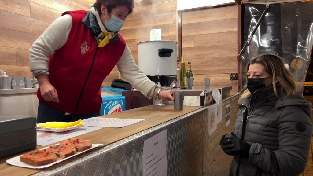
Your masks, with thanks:
M104 117L91 117L84 119L83 123L90 127L110 127L121 128L128 125L145 121L145 119L119 119L119 118L104 118Z

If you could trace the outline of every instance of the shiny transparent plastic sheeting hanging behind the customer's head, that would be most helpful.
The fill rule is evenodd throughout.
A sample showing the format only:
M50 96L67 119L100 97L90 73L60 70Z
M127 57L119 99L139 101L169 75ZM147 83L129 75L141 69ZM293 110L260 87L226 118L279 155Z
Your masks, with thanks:
M251 35L265 8L266 5L245 4L244 42ZM277 53L285 58L298 89L302 92L313 42L312 9L312 1L269 6L250 44L241 55L243 87L246 83L245 67L249 59L258 54Z

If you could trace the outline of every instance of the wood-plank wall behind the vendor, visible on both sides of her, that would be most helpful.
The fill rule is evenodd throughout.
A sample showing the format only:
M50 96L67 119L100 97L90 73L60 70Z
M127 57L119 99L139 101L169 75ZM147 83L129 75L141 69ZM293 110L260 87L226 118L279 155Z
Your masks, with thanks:
M9 76L32 76L29 48L40 34L69 10L88 10L95 0L0 0L0 70ZM162 40L176 41L176 0L135 0L134 12L121 34L138 64L137 43L150 40L150 29L162 28ZM119 78L117 67L103 82Z

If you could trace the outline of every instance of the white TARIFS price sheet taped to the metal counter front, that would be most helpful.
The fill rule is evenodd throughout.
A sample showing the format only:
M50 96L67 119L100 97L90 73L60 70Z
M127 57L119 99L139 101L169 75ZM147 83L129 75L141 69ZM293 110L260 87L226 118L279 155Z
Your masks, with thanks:
M167 175L166 141L167 129L143 142L143 176Z

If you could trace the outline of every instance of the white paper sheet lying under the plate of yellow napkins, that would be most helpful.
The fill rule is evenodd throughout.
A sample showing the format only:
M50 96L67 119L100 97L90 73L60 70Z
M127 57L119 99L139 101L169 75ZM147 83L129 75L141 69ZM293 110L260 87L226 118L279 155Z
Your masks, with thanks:
M99 130L99 127L80 127L65 132L41 132L37 131L37 145L46 146L65 139L80 136L89 132Z

